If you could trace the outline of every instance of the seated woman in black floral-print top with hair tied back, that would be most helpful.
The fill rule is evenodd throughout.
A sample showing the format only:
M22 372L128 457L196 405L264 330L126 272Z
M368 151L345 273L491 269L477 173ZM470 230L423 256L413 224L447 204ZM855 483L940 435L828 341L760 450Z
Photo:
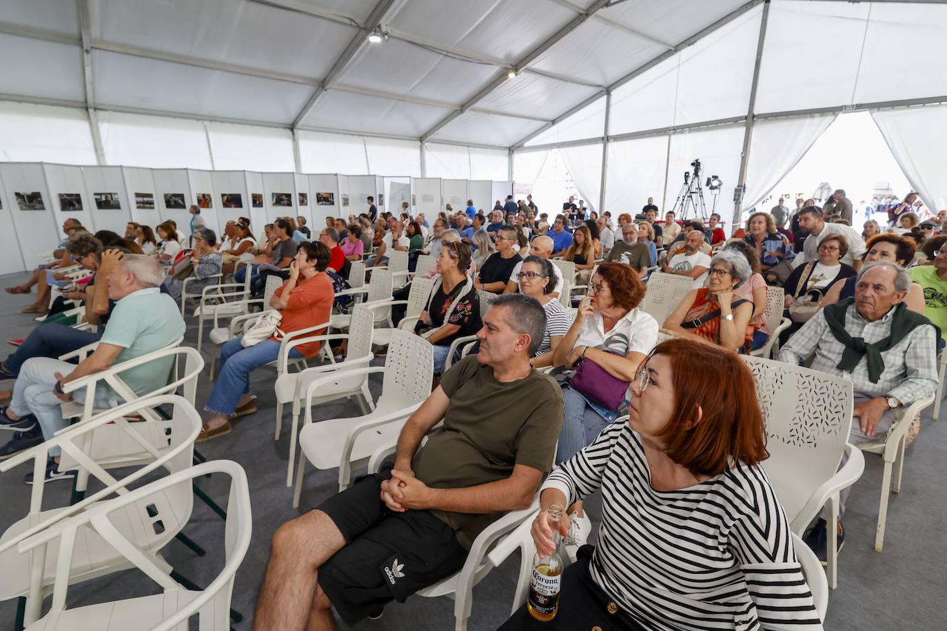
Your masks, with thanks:
M445 243L438 254L440 274L415 324L415 333L434 346L434 374L444 372L444 363L451 344L474 335L483 327L480 321L480 296L474 281L467 275L471 249L466 243Z

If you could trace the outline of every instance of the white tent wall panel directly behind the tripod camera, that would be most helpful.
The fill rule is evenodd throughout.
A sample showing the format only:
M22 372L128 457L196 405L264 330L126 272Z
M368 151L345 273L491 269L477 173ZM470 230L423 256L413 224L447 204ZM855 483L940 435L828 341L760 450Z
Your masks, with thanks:
M668 186L665 189L662 209L670 210L684 184L684 172L693 171L690 163L695 158L701 160L701 184L711 175L716 175L724 183L721 189L717 210L726 217L733 208L733 188L740 176L740 153L743 149L743 127L734 125L709 130L680 131L670 136L668 155ZM660 160L661 156L655 156ZM710 192L704 189L707 215L713 206ZM660 195L654 195L655 201ZM678 216L678 219L682 219ZM693 219L688 217L684 219Z

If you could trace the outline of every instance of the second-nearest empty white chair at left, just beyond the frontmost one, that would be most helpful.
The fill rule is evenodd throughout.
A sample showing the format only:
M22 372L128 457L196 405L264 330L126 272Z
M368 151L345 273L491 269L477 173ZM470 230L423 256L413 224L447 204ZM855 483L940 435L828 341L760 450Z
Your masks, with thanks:
M161 405L172 407L167 420L130 422L127 418L130 414L147 413ZM35 622L39 618L43 598L54 582L57 583L57 590L61 591L66 583L78 583L130 567L128 560L120 553L116 553L116 550L107 542L111 540L111 536L103 538L83 531L80 538L75 541L64 540L67 549L72 552L67 555L65 561L68 561L70 556L74 556L77 562L66 565L65 568L69 571L63 575L63 568L60 567L63 559L57 560L57 553L63 552L57 550L59 539L46 535L62 533L63 520L94 510L95 506L107 501L104 500L105 498L114 494L128 497L130 484L141 480L159 467L167 469L172 474L187 469L193 460L194 439L197 438L202 423L200 414L185 397L162 394L137 399L84 423L63 429L45 443L31 447L0 464L0 471L8 471L31 459L34 481L27 517L14 523L0 537L0 564L5 569L4 572L0 572L0 600L26 597L27 603L24 609L26 622ZM134 445L135 451L144 454L144 457L140 457L137 462L122 464L123 466L134 464L140 468L128 473L120 480L110 475L106 471L107 466L98 462L95 457L96 443L100 442L101 430L105 428L111 429L109 436L112 439L120 440L125 445ZM155 435L160 435L161 440L155 441ZM71 506L43 510L46 456L52 447L62 449L60 466L64 466L67 462L80 464L105 487ZM150 526L152 519L135 518L119 526L123 535L131 535L141 552L151 556L152 562L158 564L166 574L171 571L171 568L157 554L157 550L170 538L178 535L187 522L192 497L189 483L166 492L164 502L173 510L162 511L162 517L158 517L162 519L165 527L162 533L156 533L153 529L144 527L146 523ZM43 543L47 545L41 546L40 544ZM29 550L33 552L27 553Z

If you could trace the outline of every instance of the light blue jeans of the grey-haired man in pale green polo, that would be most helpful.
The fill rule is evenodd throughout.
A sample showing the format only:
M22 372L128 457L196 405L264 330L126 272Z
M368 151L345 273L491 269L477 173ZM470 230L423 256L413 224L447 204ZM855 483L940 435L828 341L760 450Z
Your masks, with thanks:
M53 434L68 425L63 419L63 409L60 407L63 401L53 393L56 373L65 376L75 368L75 364L60 359L29 359L23 364L20 377L16 378L16 383L13 385L13 398L9 402L9 409L21 416L35 414L40 428L43 429L45 440L49 440ZM80 388L72 393L72 396L77 402L84 403L86 391L87 388ZM112 394L104 381L98 383L95 406L97 408L114 407L114 396L115 394ZM60 448L49 449L49 455L60 455Z

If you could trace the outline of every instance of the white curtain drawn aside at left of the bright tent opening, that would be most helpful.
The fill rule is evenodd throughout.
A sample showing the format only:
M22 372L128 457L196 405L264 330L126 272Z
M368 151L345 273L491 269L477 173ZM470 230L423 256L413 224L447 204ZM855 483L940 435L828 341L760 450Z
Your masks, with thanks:
M746 164L743 211L761 202L793 170L816 139L828 129L835 116L815 114L760 120L753 126L750 156ZM740 219L736 217L734 222Z

